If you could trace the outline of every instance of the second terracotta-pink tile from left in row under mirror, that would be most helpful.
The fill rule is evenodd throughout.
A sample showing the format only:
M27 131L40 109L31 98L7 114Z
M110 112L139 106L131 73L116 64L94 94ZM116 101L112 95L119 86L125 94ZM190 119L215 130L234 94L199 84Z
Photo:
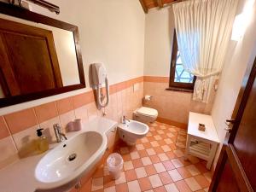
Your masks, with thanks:
M33 108L6 114L4 115L4 118L12 134L26 130L38 123Z

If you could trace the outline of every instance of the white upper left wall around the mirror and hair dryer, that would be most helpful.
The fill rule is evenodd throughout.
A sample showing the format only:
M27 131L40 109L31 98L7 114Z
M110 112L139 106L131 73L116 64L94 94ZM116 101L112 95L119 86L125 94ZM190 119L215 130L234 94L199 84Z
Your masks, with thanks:
M0 115L90 90L88 69L93 62L103 62L106 65L110 84L143 76L145 15L139 1L52 0L50 2L60 6L60 15L33 4L32 9L42 15L79 26L87 88L1 108Z

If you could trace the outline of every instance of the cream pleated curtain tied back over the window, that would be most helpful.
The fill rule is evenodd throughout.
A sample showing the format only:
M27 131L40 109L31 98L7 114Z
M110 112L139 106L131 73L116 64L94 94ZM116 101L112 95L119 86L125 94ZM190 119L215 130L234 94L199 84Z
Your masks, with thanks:
M173 4L183 67L194 74L193 99L208 102L230 43L238 0L189 0Z

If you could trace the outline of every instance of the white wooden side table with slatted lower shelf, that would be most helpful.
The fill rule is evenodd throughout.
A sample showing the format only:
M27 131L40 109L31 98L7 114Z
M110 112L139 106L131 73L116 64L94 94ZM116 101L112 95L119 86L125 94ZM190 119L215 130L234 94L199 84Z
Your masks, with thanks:
M199 123L206 125L206 131L199 131ZM212 166L218 148L218 135L212 122L212 116L189 112L188 137L185 155L194 155L207 160L207 169Z

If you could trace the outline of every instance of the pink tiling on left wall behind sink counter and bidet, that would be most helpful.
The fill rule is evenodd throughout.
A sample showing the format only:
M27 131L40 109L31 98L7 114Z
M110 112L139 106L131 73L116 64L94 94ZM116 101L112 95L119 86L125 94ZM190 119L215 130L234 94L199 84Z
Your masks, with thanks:
M139 84L139 90L134 91L133 84ZM132 112L142 105L143 77L111 85L110 95L110 103L106 108L107 117L120 121L121 116L125 114L128 118L132 118ZM96 116L102 116L102 112L96 108L93 91L89 91L0 117L0 141L9 138L9 147L7 148L14 148L9 156L17 155L18 151L15 149L15 145L20 153L27 143L37 138L36 129L38 127L44 128L44 134L49 137L49 142L54 143L53 124L61 124L63 131L66 131L67 123L73 119L79 118L86 121ZM8 129L14 141L12 137L9 137ZM113 137L110 138L111 146L116 138L114 133ZM1 163L0 158L0 166Z

